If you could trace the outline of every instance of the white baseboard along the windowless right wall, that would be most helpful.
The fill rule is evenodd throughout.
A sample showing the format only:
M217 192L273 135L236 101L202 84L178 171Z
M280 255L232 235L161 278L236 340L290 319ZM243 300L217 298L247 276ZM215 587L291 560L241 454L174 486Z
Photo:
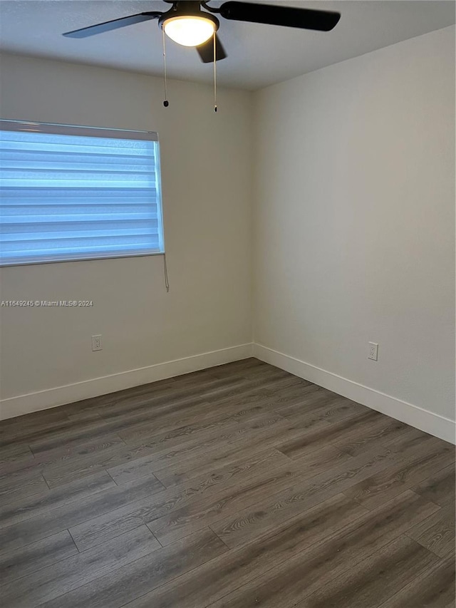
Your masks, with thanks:
M280 369L294 373L299 378L328 388L329 391L361 403L363 406L419 428L420 431L425 431L425 433L430 433L430 435L450 443L456 443L456 422L450 420L450 418L439 416L436 413L414 406L412 403L407 403L407 401L380 393L380 391L375 391L374 388L368 388L368 386L338 376L336 373L326 371L326 369L321 369L305 361L269 349L262 344L254 344L253 356Z

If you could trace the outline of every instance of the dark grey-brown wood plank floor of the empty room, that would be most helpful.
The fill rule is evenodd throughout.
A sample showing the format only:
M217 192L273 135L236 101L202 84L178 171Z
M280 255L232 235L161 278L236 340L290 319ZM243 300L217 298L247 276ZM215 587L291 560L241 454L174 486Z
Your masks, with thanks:
M247 359L0 427L4 608L455 607L455 450Z

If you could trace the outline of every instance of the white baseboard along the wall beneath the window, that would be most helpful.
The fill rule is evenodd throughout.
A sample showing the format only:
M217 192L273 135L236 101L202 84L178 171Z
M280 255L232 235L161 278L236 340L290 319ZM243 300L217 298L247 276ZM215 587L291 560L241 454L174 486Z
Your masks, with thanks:
M67 384L49 388L46 391L28 393L0 401L0 420L22 416L22 414L63 406L65 403L81 401L90 397L98 397L115 391L123 391L124 388L140 386L172 376L180 376L182 373L190 373L199 369L207 369L232 361L240 361L252 356L252 344L240 344L219 351L211 351L165 361L156 365L142 367L140 369L130 369L120 373L113 373L110 376L92 378L83 382Z

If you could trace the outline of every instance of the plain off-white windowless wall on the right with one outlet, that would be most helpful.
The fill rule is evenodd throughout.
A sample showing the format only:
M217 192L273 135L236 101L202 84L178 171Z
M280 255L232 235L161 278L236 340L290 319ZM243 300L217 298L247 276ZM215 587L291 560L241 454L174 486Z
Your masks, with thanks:
M257 353L348 396L371 388L366 404L388 402L426 430L417 408L445 426L455 28L271 86L255 104L254 341L267 347ZM368 341L380 344L376 363Z

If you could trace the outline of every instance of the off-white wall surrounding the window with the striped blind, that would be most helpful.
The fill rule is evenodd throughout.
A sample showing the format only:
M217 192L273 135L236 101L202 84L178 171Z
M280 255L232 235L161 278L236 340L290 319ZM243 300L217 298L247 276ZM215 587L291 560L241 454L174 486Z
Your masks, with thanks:
M1 414L11 416L151 381L155 369L73 385L238 346L251 335L251 101L221 89L12 55L1 61L1 118L156 130L170 292L162 257L1 269L3 300L89 299L89 309L1 309ZM103 334L92 353L90 336ZM172 373L242 357L234 349ZM166 373L162 370L160 373Z

